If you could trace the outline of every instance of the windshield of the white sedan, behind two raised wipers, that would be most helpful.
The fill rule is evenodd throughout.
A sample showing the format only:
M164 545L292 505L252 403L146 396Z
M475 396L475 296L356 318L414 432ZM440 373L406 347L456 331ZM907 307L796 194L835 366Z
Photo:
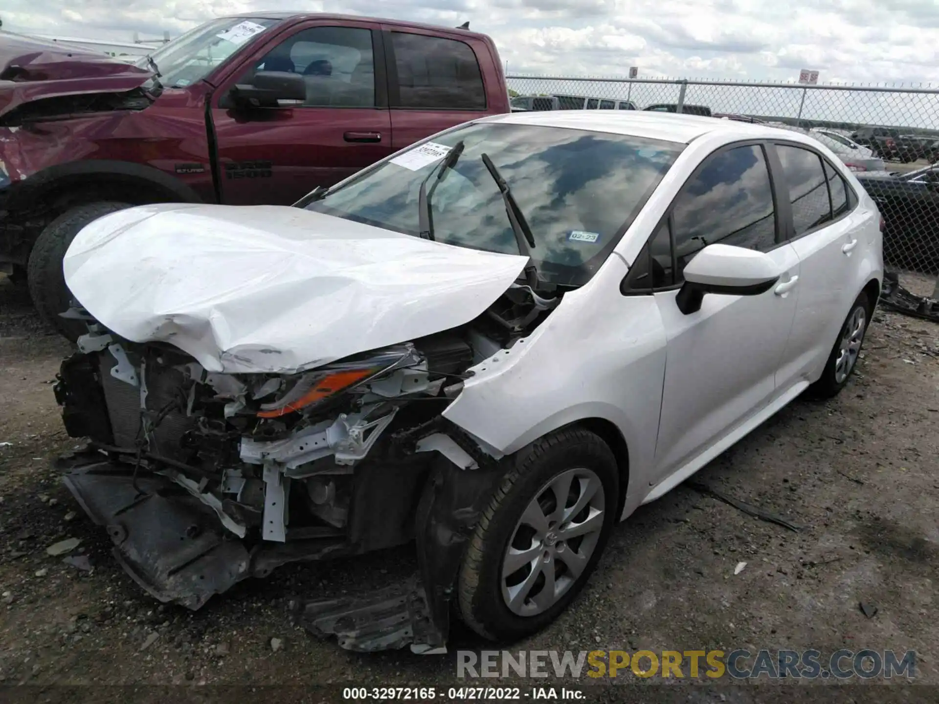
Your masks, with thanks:
M460 144L438 179L442 158ZM486 154L531 226L531 258L542 278L577 286L606 260L684 147L606 132L475 123L353 176L307 208L417 237L426 182L434 239L515 254L518 241Z

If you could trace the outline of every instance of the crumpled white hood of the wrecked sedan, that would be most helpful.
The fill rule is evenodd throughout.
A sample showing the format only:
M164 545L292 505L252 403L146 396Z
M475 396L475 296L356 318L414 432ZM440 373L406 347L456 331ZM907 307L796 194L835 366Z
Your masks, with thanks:
M527 262L283 206L156 205L69 246L69 289L132 342L208 371L291 374L468 323Z

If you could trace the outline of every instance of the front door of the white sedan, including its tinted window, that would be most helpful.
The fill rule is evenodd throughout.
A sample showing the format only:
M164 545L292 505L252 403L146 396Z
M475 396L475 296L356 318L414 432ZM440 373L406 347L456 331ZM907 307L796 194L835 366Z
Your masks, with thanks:
M756 296L708 294L685 315L677 291L654 293L668 339L654 480L728 435L773 400L793 325L799 260L779 244L777 212L762 145L724 148L701 164L671 212L675 283L709 244L767 253L779 283ZM654 481L656 483L656 481Z

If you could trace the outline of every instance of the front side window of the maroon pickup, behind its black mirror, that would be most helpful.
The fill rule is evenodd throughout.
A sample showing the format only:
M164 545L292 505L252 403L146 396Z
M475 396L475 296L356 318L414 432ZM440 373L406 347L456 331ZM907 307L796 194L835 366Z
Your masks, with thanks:
M255 70L303 76L304 107L375 107L375 59L369 29L304 29L271 49L239 83L251 83Z

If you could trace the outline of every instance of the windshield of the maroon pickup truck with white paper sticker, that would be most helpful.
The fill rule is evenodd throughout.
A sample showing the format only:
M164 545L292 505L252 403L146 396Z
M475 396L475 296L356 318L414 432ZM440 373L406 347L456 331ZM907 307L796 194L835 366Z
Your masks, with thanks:
M152 59L160 71L160 83L181 88L201 81L243 44L277 22L258 17L213 20L140 58L135 65L152 69Z

